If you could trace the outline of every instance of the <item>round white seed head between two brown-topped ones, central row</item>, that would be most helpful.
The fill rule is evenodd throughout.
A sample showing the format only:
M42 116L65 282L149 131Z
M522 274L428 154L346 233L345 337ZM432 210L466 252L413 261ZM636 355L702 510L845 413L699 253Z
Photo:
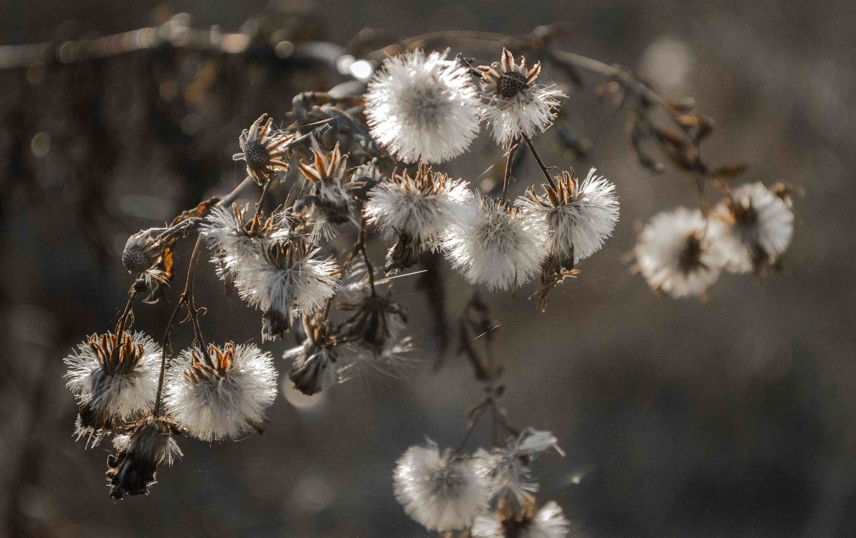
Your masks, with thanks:
M445 239L447 256L471 284L489 290L521 286L538 274L546 255L544 222L496 198L473 197L464 221Z

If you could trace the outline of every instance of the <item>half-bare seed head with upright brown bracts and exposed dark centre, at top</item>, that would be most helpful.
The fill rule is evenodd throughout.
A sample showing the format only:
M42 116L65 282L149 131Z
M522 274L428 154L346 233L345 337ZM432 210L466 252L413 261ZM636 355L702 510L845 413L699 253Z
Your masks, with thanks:
M502 60L490 66L479 66L482 73L484 98L482 117L493 127L493 138L504 148L523 137L542 133L556 119L565 97L552 86L535 84L541 73L541 62L526 68L526 58L520 64L514 55L502 49Z

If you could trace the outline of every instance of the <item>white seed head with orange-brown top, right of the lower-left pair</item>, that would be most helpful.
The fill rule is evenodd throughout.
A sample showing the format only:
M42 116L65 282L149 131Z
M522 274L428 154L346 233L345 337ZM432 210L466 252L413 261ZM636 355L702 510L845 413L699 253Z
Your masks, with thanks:
M201 440L234 439L265 429L276 398L270 353L250 345L209 345L181 352L166 375L163 402L182 428Z

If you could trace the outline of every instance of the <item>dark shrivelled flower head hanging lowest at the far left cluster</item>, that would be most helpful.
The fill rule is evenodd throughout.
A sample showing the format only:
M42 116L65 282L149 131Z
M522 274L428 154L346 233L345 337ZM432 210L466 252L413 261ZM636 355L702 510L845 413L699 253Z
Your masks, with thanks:
M181 457L181 450L172 438L175 424L151 415L128 427L128 433L116 435L113 446L116 455L107 457L107 485L110 499L122 499L125 494L147 494L155 482L158 464L171 465Z

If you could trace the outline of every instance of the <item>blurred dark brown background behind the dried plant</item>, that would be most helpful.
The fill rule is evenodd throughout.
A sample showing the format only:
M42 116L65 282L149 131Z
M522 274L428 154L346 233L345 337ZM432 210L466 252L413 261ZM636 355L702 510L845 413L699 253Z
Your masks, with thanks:
M724 275L706 303L658 297L631 275L634 225L693 204L693 192L671 169L639 166L626 115L594 98L587 78L565 106L590 155L545 138L545 157L615 181L615 237L546 315L527 289L486 295L502 323L511 420L550 429L568 454L538 460L539 499L556 500L591 536L856 535L853 3L5 0L0 44L95 37L180 12L193 27L225 31L265 14L249 27L337 44L363 27L395 38L568 21L568 50L638 69L669 97L696 98L716 120L711 161L745 161L746 180L805 189L785 269L760 283ZM241 128L262 112L282 115L296 92L342 80L270 47L241 56L163 48L0 71L0 535L425 534L393 498L395 459L425 437L454 446L479 387L463 359L431 371L436 342L415 279L396 291L413 293L424 365L401 379L359 375L309 406L281 397L260 437L181 439L184 458L159 472L147 498L109 500L106 448L84 451L72 437L62 357L121 310L128 234L235 185ZM497 157L483 138L477 159L445 168L479 174ZM526 165L526 180L538 180ZM178 267L188 256L181 249ZM469 291L441 270L456 316ZM257 339L258 314L225 299L210 267L202 274L209 340ZM136 327L161 334L169 308L136 308ZM479 429L474 442L487 437Z

